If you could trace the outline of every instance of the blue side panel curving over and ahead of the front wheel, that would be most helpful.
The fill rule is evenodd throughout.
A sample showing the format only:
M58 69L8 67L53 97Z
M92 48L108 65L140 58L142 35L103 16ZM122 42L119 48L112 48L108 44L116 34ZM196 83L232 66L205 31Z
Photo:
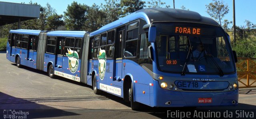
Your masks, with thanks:
M145 105L150 105L150 97L153 96L153 93L150 92L150 89L153 86L158 84L153 84L153 78L136 62L128 59L123 60L123 78L128 73L132 74L132 78L135 83L135 101L143 103ZM152 90L152 89L151 89ZM145 93L145 94L144 94ZM151 98L152 99L152 98Z

